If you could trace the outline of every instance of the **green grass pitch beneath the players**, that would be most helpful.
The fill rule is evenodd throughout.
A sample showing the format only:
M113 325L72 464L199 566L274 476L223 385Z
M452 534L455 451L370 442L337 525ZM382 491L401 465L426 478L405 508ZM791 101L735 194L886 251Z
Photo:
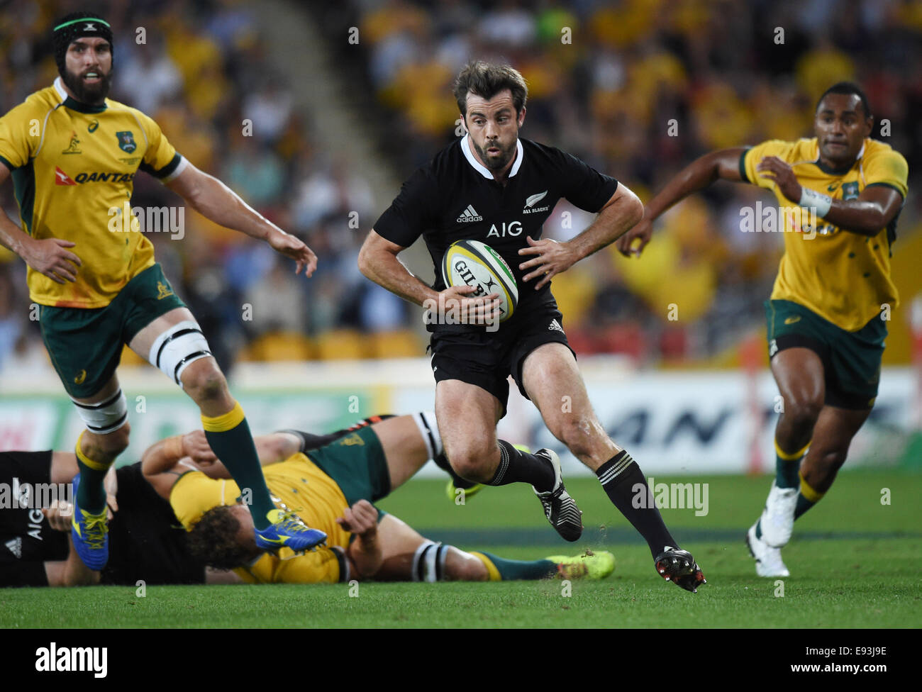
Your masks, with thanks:
M922 475L853 472L798 521L784 550L791 577L755 576L743 534L769 476L657 477L708 484L708 513L664 510L702 566L697 594L656 576L646 545L594 479L568 490L584 539L559 539L522 486L486 488L463 506L442 481L400 488L381 506L437 540L503 557L612 551L605 581L0 590L0 627L917 627L922 622ZM889 498L887 497L889 494ZM882 503L889 499L888 503ZM783 581L783 584L776 583Z

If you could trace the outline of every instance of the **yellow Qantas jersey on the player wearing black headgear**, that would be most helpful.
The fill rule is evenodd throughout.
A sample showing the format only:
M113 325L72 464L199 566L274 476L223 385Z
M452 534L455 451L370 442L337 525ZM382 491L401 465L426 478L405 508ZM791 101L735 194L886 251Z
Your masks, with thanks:
M58 77L0 118L0 160L13 171L23 230L72 240L83 262L65 284L30 267L30 299L102 308L154 264L150 240L123 230L138 228L136 219L123 225L124 207L138 169L170 180L185 161L147 115L109 99L98 108L79 103Z

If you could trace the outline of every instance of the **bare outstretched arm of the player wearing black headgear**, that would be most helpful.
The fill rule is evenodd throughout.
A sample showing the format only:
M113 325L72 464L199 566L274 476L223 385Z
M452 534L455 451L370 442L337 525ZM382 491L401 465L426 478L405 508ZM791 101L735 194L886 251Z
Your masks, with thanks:
M311 276L317 268L317 256L307 245L279 229L247 205L231 188L191 163L187 162L183 171L166 185L203 217L228 229L239 230L251 238L266 240L273 250L297 263L295 274L304 269L305 276Z

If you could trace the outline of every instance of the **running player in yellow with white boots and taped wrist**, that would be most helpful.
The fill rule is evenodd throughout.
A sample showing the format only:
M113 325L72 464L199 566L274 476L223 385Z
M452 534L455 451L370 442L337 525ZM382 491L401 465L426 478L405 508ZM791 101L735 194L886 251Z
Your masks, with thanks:
M862 90L835 84L817 103L815 137L697 159L656 194L644 221L618 243L623 254L639 255L656 217L718 179L771 190L782 207L785 255L765 313L768 355L785 406L774 432L774 484L746 537L762 577L788 575L780 549L794 521L833 485L877 396L887 335L882 312L898 302L890 257L908 167L889 145L870 138L873 124ZM815 227L801 209L814 210Z

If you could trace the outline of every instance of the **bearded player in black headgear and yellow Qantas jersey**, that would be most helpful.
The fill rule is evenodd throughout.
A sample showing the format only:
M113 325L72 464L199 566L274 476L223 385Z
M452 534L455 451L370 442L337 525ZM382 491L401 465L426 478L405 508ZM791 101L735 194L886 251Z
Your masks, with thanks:
M28 264L41 334L86 429L73 538L80 558L108 557L102 479L128 446L128 410L115 369L123 344L181 385L202 413L208 442L253 493L256 541L306 549L325 539L269 498L241 406L192 313L154 262L153 245L124 215L138 170L159 178L212 221L266 240L311 276L316 256L171 147L147 115L106 98L112 29L75 13L53 28L60 77L0 118L0 184L12 175L22 228L0 214L0 243ZM112 230L117 229L117 230ZM123 229L128 229L126 232Z

